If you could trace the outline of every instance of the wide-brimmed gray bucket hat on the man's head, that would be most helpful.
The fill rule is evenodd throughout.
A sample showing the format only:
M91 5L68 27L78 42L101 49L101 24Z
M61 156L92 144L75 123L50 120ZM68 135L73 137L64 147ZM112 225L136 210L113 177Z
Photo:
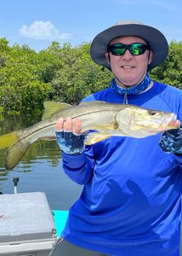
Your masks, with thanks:
M90 48L90 55L93 61L111 70L105 60L105 53L111 40L119 37L143 38L150 45L153 51L153 60L148 66L148 71L161 64L168 55L168 41L156 28L146 26L135 20L120 21L114 26L100 32L93 40Z

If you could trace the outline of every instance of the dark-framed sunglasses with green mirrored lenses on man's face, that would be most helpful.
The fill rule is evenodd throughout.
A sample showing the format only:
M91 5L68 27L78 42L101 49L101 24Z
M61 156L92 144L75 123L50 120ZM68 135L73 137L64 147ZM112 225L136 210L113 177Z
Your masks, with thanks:
M108 46L108 51L111 51L112 55L124 55L126 50L129 50L131 55L143 55L146 49L150 49L147 44L112 44Z

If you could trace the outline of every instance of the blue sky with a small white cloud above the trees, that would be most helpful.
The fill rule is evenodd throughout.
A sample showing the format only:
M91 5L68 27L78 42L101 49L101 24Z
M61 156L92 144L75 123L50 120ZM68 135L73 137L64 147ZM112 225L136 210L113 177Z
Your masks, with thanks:
M154 26L168 43L182 41L181 0L2 0L0 9L0 38L37 52L53 41L91 42L120 20Z

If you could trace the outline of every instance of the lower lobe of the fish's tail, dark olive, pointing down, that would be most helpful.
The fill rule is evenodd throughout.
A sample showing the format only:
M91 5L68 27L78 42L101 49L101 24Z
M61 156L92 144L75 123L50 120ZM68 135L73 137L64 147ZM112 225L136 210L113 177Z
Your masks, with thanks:
M29 148L31 143L23 141L18 141L12 147L9 148L7 159L5 162L5 167L7 170L12 170L21 160L26 150Z

